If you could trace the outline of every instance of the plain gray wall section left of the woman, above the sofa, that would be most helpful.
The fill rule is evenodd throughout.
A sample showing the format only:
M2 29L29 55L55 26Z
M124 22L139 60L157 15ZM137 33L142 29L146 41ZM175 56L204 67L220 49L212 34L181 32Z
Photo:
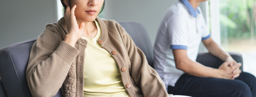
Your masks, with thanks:
M0 49L37 37L57 21L56 0L3 0L0 3Z

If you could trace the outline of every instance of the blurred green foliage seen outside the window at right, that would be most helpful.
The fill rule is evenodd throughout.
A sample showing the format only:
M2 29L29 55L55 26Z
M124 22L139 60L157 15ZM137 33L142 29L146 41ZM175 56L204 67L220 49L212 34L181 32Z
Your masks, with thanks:
M221 39L255 38L255 0L219 0L219 4Z

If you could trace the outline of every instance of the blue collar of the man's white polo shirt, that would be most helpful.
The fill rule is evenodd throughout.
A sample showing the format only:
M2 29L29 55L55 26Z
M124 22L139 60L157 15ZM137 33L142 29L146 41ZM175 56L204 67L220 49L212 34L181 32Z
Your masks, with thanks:
M200 13L198 8L196 8L195 10L188 0L180 0L180 1L187 7L187 9L189 10L189 13L193 15L193 17L197 17L196 12Z

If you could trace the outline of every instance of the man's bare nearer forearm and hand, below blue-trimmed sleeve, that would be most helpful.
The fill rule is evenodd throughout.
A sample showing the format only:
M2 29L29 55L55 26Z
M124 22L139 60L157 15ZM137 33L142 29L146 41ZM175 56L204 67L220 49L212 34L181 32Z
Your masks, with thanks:
M187 50L185 49L173 49L173 53L176 68L193 76L234 79L236 77L235 75L240 74L240 72L233 71L239 68L241 64L230 67L228 65L232 62L226 61L218 69L215 69L191 61L187 57Z

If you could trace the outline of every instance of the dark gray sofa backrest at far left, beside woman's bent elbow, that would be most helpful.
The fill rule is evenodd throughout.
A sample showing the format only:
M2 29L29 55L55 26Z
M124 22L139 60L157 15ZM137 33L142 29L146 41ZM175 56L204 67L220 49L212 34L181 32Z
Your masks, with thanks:
M8 97L32 97L26 80L26 68L36 39L18 42L0 50L0 78Z

